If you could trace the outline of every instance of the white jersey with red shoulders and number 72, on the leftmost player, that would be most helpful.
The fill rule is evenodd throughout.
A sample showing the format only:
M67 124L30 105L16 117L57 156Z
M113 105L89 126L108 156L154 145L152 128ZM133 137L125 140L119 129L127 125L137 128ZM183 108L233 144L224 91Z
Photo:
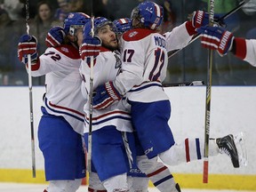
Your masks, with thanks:
M63 116L74 131L84 134L84 97L79 52L71 45L48 48L31 67L31 76L45 75L44 108Z

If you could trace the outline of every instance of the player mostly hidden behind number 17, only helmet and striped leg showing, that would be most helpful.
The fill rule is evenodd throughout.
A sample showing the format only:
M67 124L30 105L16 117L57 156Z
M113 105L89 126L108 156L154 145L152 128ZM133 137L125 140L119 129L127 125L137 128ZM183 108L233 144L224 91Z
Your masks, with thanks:
M132 20L130 18L114 20L113 24L116 27L116 36L118 41L121 40L121 36L124 32L132 29ZM132 188L135 191L147 191L148 180L150 179L154 186L162 192L179 192L180 186L178 183L175 183L169 169L162 162L157 162L155 159L148 159L140 146L140 141L137 138L136 132L134 132L134 134L137 162L143 162L147 169L144 170L146 175L136 167L130 170L128 174L132 176Z

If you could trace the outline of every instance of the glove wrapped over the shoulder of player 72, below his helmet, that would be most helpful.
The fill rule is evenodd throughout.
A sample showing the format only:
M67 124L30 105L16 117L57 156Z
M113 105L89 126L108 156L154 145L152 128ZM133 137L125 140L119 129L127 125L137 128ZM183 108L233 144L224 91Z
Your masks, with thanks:
M66 34L64 28L60 26L52 27L45 38L45 44L47 47L60 46L64 42Z

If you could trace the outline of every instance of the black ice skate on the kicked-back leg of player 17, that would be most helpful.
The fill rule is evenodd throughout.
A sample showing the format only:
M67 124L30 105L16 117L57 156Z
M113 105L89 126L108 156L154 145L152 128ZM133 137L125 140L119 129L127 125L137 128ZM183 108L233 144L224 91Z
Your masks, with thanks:
M236 149L236 143L232 134L229 134L223 138L216 139L216 143L220 148L220 153L227 154L232 161L235 168L239 167L239 156Z

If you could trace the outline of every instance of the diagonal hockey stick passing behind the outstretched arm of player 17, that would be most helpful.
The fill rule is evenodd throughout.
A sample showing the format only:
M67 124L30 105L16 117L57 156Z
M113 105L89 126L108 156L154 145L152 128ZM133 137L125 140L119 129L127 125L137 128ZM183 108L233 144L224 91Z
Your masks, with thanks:
M221 20L225 20L227 19L230 15L232 15L233 13L237 12L244 4L247 4L250 0L244 0L242 2L240 2L234 9L232 9L231 11L227 12L225 15L223 15L222 17L220 17L220 19L218 20L214 20L214 22L219 23ZM189 44L192 44L194 41L196 41L196 39L200 36L200 34L196 34L195 36L192 37L192 39L188 42L187 46ZM187 47L185 46L185 47ZM178 50L173 50L171 52L168 52L168 59L170 59L172 56L174 56L176 53L180 52L181 50L183 50L185 47L182 47Z

